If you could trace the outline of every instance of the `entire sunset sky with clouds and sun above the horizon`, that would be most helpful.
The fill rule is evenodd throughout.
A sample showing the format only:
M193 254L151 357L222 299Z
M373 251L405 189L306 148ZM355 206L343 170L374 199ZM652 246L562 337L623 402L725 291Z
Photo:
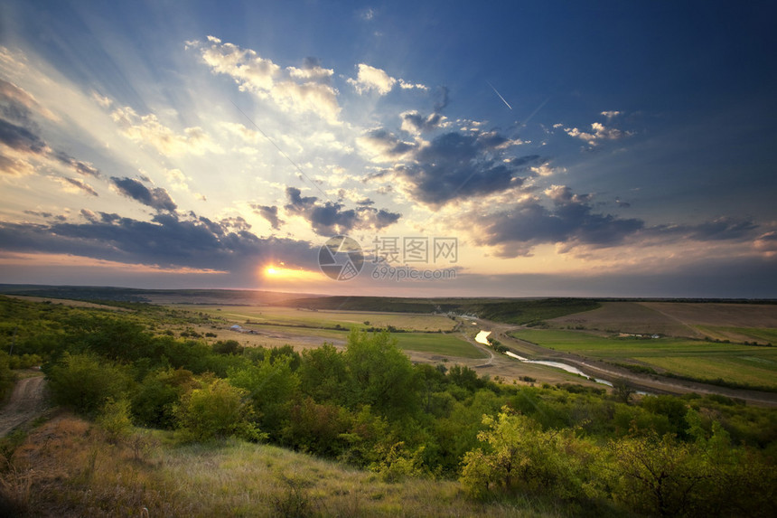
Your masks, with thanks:
M775 19L5 0L0 283L775 298Z

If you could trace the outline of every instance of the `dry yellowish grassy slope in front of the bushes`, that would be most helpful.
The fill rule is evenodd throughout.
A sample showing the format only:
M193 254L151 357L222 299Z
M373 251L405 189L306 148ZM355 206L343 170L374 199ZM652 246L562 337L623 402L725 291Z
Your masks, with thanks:
M555 516L554 504L467 499L454 481L377 474L229 439L174 446L166 432L110 436L70 414L0 458L4 516Z

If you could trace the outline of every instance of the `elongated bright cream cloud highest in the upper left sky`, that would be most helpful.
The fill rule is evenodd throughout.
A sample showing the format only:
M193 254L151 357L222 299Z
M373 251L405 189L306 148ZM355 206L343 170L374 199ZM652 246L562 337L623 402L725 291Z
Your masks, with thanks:
M334 71L324 69L308 58L302 68L282 69L271 60L250 49L241 49L219 38L208 36L207 42L186 42L195 49L213 73L225 74L259 99L272 100L278 108L295 113L315 113L332 124L338 124L340 106L337 90L332 87Z

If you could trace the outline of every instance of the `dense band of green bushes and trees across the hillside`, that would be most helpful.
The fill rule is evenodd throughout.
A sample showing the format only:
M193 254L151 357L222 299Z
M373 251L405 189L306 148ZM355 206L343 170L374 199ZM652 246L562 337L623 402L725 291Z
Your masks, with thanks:
M777 512L773 410L503 384L414 365L386 333L297 353L154 334L159 323L137 315L0 302L4 349L9 329L42 311L38 332L15 335L14 355L39 355L54 401L100 422L169 429L182 442L270 441L386 481L454 478L473 498L533 494L569 513Z

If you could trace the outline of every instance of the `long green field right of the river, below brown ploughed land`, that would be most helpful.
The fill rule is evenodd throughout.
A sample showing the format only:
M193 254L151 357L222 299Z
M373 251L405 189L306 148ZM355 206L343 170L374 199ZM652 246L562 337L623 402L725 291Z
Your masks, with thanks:
M777 348L773 347L563 330L521 330L512 335L556 351L613 363L641 363L697 380L777 388Z

